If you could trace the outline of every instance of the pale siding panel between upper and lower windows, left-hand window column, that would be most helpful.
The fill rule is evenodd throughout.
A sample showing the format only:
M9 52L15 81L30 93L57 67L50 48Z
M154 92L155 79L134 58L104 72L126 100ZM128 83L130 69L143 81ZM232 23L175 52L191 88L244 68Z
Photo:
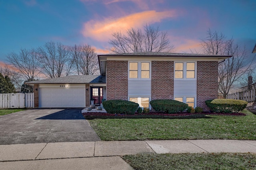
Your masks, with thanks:
M151 96L151 80L128 80L128 96Z

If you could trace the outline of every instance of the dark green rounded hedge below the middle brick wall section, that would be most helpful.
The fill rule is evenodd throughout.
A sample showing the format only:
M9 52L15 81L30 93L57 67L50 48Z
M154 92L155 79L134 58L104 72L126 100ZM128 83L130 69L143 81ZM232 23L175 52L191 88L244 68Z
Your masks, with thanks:
M168 100L168 99L151 100L150 105L156 111L162 111L164 113L170 113L170 114L178 113L188 108L188 104L179 102L177 100Z

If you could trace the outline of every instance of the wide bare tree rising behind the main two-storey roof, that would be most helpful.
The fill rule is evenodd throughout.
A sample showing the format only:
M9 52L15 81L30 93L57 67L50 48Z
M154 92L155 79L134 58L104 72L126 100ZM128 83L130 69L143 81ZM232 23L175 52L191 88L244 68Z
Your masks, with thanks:
M126 35L116 31L112 33L109 44L112 47L108 50L112 53L171 52L174 50L167 32L150 25L144 26L144 31L131 27L126 31Z

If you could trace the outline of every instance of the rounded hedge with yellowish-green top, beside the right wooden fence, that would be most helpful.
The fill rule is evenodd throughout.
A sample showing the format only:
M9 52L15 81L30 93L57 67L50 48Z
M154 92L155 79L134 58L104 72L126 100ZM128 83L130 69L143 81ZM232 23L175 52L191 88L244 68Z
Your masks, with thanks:
M206 100L206 106L217 113L237 113L247 106L248 102L235 99Z

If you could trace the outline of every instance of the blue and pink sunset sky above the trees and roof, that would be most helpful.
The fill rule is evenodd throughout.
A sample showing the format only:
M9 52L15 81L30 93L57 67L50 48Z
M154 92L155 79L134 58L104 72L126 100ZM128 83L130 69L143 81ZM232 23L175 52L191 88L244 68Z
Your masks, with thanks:
M167 31L177 53L199 50L206 31L256 43L256 0L0 0L0 62L6 54L44 45L89 44L108 53L113 31L150 24ZM254 56L254 55L252 55Z

